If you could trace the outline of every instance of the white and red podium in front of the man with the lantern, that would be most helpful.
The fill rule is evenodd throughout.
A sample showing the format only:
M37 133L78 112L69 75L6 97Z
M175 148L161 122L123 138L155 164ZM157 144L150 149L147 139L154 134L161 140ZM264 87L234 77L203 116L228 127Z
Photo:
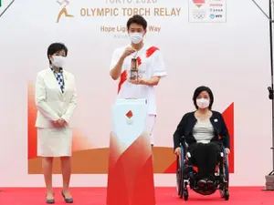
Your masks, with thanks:
M112 108L107 205L155 205L146 118L145 99L119 99Z

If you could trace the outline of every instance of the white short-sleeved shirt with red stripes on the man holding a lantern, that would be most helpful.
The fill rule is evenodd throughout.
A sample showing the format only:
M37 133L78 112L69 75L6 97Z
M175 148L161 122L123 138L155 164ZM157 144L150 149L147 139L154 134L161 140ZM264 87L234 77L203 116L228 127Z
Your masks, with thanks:
M111 59L111 69L113 69L126 47L122 46L114 50ZM121 77L118 85L117 98L142 98L148 101L148 114L156 115L156 97L153 86L134 85L129 82L132 67L132 58L137 57L139 64L138 75L143 80L149 80L151 77L165 77L167 75L166 69L163 63L163 57L160 50L156 46L149 46L144 44L142 49L133 53L131 56L127 56L121 67Z

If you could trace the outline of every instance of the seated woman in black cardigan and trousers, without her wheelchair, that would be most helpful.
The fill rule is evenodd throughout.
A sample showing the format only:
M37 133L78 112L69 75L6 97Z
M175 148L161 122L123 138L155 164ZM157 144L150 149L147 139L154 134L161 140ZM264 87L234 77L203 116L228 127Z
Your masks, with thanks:
M196 110L186 113L174 132L174 153L180 155L180 144L186 143L192 164L198 168L196 186L213 186L222 146L230 152L227 126L222 115L211 109L214 97L209 87L197 87L193 101Z

